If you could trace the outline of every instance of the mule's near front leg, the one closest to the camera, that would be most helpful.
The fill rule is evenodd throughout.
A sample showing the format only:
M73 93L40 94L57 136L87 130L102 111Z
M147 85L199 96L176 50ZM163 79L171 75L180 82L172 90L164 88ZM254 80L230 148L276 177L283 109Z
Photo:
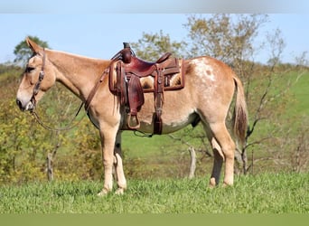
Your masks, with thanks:
M99 196L109 193L113 189L113 164L114 164L114 146L117 136L117 128L101 127L100 131L103 166L104 166L104 186Z

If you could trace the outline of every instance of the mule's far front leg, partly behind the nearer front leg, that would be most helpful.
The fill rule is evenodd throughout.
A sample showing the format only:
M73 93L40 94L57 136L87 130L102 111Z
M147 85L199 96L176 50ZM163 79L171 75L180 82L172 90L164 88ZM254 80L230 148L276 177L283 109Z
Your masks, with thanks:
M114 148L114 166L116 169L116 179L117 179L117 194L122 194L126 190L126 177L124 174L124 169L122 165L122 152L121 152L121 131L117 132L115 148Z

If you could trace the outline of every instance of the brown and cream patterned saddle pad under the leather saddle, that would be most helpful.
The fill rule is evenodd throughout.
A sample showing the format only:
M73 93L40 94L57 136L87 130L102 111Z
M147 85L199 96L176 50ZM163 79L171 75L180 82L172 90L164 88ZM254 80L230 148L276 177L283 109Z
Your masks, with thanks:
M164 91L183 89L184 87L184 73L183 73L183 59L175 59L179 64L179 73L174 73L173 70L165 69L164 73ZM109 89L115 93L117 90L117 62L115 61L110 66L109 71ZM126 74L126 82L130 74ZM155 92L155 76L150 74L139 78L144 92Z

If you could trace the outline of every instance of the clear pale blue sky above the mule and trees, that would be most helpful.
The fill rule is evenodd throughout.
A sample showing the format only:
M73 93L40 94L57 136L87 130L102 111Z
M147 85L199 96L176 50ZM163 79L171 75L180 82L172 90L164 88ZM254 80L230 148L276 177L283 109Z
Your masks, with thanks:
M206 14L205 14L206 15ZM172 41L186 38L188 14L0 14L0 63L14 60L14 46L27 35L47 41L52 49L109 59L122 42L137 42L142 33L168 33ZM286 41L283 61L309 52L309 14L269 14L261 31L279 28ZM255 59L267 59L261 52Z

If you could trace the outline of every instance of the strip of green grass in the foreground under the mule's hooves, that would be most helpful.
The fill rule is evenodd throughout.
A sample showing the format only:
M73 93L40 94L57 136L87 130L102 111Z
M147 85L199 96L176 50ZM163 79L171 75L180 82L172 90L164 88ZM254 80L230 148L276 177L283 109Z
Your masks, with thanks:
M259 174L210 189L204 178L131 180L124 195L98 197L98 182L0 187L1 213L308 213L309 174Z

